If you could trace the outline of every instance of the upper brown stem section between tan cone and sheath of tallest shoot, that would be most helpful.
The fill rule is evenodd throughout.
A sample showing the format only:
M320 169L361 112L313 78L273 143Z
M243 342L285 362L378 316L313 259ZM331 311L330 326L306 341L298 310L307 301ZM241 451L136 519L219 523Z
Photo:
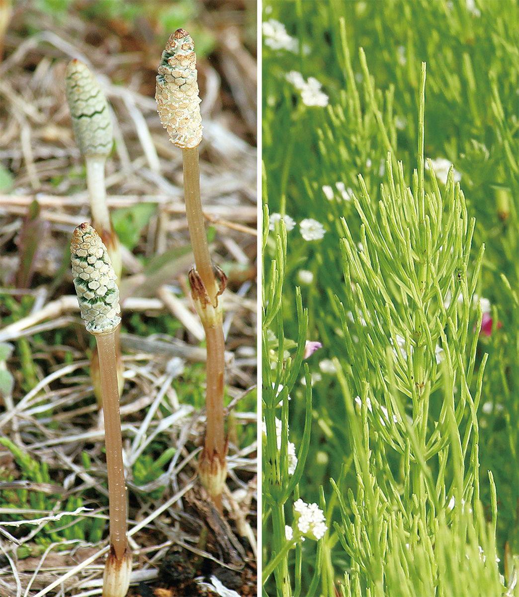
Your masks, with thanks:
M202 204L200 202L200 166L198 147L188 147L182 150L184 165L184 196L186 199L187 225L193 247L196 270L214 305L218 292L211 256L207 244L205 224L203 221Z

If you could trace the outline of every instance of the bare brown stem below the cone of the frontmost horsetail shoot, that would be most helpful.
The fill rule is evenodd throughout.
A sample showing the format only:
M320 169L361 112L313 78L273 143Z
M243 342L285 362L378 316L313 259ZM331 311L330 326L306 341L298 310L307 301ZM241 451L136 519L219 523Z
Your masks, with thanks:
M121 414L115 352L116 330L95 334L103 396L104 443L110 503L110 543L120 560L126 549L126 484L122 465Z

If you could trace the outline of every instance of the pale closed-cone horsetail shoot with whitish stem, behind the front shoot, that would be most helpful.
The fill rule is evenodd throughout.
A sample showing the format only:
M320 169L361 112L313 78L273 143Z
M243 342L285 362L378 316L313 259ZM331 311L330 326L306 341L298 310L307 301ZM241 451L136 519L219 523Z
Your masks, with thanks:
M113 145L112 118L110 118L110 110L103 90L88 66L80 60L72 60L67 66L66 96L76 142L85 158L86 186L90 196L92 225L98 230L101 240L107 248L116 278L121 280L121 246L106 205L104 181L104 166ZM117 336L116 350L119 395L121 395L123 367ZM92 355L90 374L95 396L101 404L97 351L94 351Z

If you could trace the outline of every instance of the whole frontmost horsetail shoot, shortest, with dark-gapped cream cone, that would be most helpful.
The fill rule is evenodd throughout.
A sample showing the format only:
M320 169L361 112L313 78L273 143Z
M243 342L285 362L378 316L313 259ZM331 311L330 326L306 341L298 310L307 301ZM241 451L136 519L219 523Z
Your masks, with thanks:
M122 464L121 416L116 365L116 331L121 324L119 288L106 247L90 224L80 224L70 244L74 286L86 330L99 353L106 466L110 502L110 552L103 597L124 597L132 566L126 538L126 485Z

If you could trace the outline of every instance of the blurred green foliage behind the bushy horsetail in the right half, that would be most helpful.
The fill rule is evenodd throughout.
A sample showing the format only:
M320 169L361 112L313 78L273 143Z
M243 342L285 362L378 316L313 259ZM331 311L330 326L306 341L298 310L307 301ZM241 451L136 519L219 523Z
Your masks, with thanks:
M285 336L297 337L294 289L300 285L299 270L310 270L314 282L301 288L303 305L308 308L308 336L323 343L323 349L309 361L311 371L324 358L343 359L344 342L332 298L345 295L339 251L344 233L339 217L345 217L354 240L360 241L360 236L355 238L360 220L353 203L328 202L322 186L334 187L342 181L359 195L357 174L361 173L375 205L384 181L381 165L387 143L380 122L366 109L359 48L366 54L375 103L394 156L403 162L407 184L417 165L419 74L422 61L427 63L425 156L447 158L461 173L468 216L476 219L473 259L481 245L486 246L476 293L490 300L494 327L490 338L480 337L477 349L477 367L483 354L489 355L481 395L481 405L489 406L483 410L480 405L478 411L481 500L489 516L490 470L498 493L497 545L502 567L507 541L512 553L519 551L518 4L481 1L472 10L467 2L330 0L264 2L263 10L264 21L280 21L301 42L299 53L265 46L263 51L262 157L269 210L286 213L298 222L314 218L328 230L322 241L314 242L303 241L296 230L288 233ZM347 85L339 17L344 17L347 27L363 130L348 118L355 99ZM316 77L330 98L329 106L302 106L294 86L285 79L291 70L301 72L305 79ZM427 178L426 187L430 184ZM269 259L267 252L266 272ZM474 310L473 324L475 318ZM322 377L313 388L310 452L307 473L301 479L301 494L308 502L319 502L321 484L329 494L328 479L339 478L341 464L348 458L338 382L333 376ZM302 395L302 389L293 392L290 407L289 439L296 445L302 424L295 421L304 420ZM356 484L353 473L352 468L346 481L352 487ZM345 565L334 564L338 570Z

